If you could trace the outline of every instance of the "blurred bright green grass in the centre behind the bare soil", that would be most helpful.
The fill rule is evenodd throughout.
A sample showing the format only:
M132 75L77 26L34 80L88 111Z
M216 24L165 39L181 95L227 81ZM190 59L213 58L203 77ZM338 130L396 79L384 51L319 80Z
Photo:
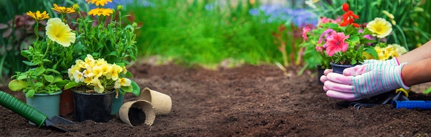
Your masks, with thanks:
M271 36L280 23L263 23L262 17L249 14L258 3L148 2L147 7L127 6L134 21L142 23L137 37L140 55L163 56L185 65L282 60Z

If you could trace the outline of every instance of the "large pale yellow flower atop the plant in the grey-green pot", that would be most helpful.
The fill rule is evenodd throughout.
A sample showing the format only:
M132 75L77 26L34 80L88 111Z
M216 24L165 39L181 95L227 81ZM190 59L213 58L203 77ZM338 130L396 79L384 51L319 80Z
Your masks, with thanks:
M63 23L59 18L48 19L46 23L46 35L52 41L69 47L70 43L75 43L76 34L72 32L69 25Z

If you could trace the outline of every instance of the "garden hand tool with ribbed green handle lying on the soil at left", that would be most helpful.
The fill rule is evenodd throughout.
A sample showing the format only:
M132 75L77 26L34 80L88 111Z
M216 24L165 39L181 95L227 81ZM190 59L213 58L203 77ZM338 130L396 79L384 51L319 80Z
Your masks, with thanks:
M59 129L60 131L67 131L66 129L63 129L58 125L74 124L71 120L67 120L60 116L54 116L50 119L45 114L39 112L30 105L25 104L18 98L15 98L14 96L2 91L0 91L0 105L12 110L12 112L17 113L20 116L23 116L25 119L30 120L38 127L45 125L47 127L54 127L54 129Z

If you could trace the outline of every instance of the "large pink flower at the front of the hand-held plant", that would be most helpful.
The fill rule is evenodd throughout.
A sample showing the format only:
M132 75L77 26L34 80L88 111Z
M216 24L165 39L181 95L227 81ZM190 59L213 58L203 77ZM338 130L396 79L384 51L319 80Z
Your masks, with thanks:
M326 54L333 56L335 52L346 52L348 43L345 40L349 37L349 35L345 36L343 32L333 32L332 36L326 39Z

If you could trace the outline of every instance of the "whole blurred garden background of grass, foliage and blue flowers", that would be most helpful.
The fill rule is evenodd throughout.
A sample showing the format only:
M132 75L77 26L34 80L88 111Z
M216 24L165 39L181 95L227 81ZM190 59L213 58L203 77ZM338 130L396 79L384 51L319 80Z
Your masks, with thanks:
M138 54L141 59L156 56L158 63L171 61L185 66L211 69L220 64L279 64L306 66L313 54L304 54L302 28L316 25L319 17L337 18L342 14L338 0L112 0L112 8L123 5L131 14L129 22L140 26ZM375 17L389 20L383 10L394 15L396 25L388 38L409 50L429 41L431 3L425 0L347 0L350 10L359 14L359 23ZM0 77L10 77L28 69L19 52L32 42L32 20L25 12L47 11L58 16L52 4L72 6L85 0L0 0ZM308 4L306 4L308 3ZM310 4L312 3L312 4ZM91 8L91 7L90 7ZM0 83L1 83L0 80Z

